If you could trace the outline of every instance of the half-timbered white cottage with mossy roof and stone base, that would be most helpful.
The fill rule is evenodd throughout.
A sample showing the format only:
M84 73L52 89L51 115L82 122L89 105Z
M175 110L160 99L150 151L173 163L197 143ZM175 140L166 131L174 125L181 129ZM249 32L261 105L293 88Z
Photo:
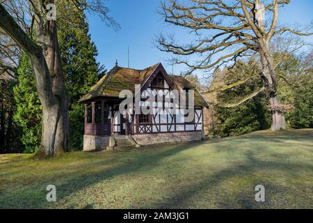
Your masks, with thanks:
M191 82L168 75L161 63L144 70L116 63L79 102L85 105L84 151L202 139L209 107Z

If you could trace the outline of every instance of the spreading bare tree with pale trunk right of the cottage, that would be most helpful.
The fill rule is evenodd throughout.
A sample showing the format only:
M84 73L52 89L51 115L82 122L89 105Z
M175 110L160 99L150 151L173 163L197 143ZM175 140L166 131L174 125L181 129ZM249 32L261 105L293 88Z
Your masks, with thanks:
M172 36L161 34L157 38L157 47L177 55L172 63L186 65L190 68L187 73L233 66L244 56L258 54L261 64L259 77L263 79L264 86L227 107L240 105L266 91L272 112L272 130L285 129L277 95L277 65L273 61L270 42L273 36L287 32L300 36L312 34L278 27L279 7L288 3L289 0L189 0L184 3L169 0L161 3L160 13L165 21L190 29L197 40L180 45ZM188 56L197 54L200 55L199 61L188 61Z

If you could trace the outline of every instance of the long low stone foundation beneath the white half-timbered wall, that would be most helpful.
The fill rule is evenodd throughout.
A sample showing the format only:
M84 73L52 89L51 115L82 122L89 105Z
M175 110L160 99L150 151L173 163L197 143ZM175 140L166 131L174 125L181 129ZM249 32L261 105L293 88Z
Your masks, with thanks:
M198 132L172 132L159 134L135 134L132 135L137 144L150 145L181 141L197 141L202 139L201 131Z

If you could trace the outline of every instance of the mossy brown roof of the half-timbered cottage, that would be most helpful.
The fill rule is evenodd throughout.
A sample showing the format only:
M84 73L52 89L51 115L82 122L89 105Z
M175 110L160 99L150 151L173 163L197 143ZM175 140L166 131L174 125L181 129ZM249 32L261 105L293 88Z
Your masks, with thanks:
M97 97L118 98L120 91L122 90L129 90L132 93L135 93L135 85L141 84L141 86L143 86L145 82L147 82L147 79L154 74L154 71L156 71L159 66L162 66L161 63L157 63L154 66L143 70L115 66L112 70L106 73L106 75L104 75L104 77L102 77L86 95L83 95L79 102ZM168 79L172 82L171 84L175 86L175 89L183 90L187 88L195 90L195 106L209 106L207 101L204 100L202 95L200 95L198 89L196 89L195 86L193 86L191 82L188 82L188 80L184 77L168 75Z

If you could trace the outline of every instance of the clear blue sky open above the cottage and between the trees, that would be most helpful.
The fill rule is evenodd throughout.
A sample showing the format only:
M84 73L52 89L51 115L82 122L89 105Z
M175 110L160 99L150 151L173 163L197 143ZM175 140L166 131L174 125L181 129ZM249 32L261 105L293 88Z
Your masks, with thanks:
M108 0L106 5L111 9L110 15L120 23L122 29L118 32L107 27L96 15L88 15L91 38L97 45L99 56L97 61L107 69L115 65L127 67L127 47L130 51L130 67L146 68L161 62L169 73L172 66L168 66L167 59L171 54L160 52L153 45L154 35L158 33L174 33L182 43L188 41L183 29L175 28L163 22L157 13L160 0ZM280 24L307 25L313 20L312 0L291 0L291 3L280 10ZM305 38L312 43L313 38ZM187 42L188 43L188 42ZM175 66L175 74L179 74L183 67Z

